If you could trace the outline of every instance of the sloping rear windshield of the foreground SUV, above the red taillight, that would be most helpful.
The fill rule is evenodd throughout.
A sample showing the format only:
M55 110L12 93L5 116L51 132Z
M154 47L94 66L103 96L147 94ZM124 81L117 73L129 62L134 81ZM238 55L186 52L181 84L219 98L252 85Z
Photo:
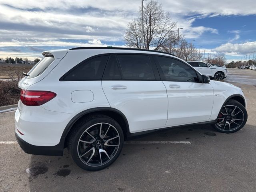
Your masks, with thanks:
M42 60L40 60L29 72L28 75L30 76L26 76L26 78L33 78L33 77L37 77L40 74L42 74L47 68L48 66L50 66L50 64L54 61L53 57L45 57Z

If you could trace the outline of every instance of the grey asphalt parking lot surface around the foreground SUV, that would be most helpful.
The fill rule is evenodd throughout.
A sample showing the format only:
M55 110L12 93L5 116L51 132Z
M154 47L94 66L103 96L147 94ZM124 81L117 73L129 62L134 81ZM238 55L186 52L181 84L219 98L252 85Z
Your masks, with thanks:
M211 126L162 130L133 141L186 141L124 144L109 168L88 172L64 156L25 154L17 143L0 144L0 191L255 192L256 72L229 69L225 82L243 89L248 121L233 134ZM0 142L16 141L14 112L0 114ZM144 142L145 143L145 142Z

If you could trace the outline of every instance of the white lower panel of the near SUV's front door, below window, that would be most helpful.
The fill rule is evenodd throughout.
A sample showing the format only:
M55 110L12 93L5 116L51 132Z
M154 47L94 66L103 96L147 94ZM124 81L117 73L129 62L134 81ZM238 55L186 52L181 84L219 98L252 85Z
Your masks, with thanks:
M164 85L169 101L166 127L209 120L214 98L210 84L164 81Z

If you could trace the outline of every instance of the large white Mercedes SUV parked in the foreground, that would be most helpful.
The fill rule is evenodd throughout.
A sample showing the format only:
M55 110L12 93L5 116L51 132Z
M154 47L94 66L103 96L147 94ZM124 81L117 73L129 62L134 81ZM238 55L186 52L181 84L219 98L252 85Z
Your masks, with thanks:
M170 54L72 48L43 55L18 83L15 135L26 153L61 156L68 147L78 166L100 170L131 136L188 124L232 133L246 124L240 88L210 81Z

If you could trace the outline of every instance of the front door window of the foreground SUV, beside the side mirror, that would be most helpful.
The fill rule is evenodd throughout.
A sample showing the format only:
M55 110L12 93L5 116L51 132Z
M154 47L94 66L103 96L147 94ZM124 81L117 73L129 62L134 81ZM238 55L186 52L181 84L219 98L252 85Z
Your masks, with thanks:
M183 62L156 56L166 81L199 82L196 72Z

